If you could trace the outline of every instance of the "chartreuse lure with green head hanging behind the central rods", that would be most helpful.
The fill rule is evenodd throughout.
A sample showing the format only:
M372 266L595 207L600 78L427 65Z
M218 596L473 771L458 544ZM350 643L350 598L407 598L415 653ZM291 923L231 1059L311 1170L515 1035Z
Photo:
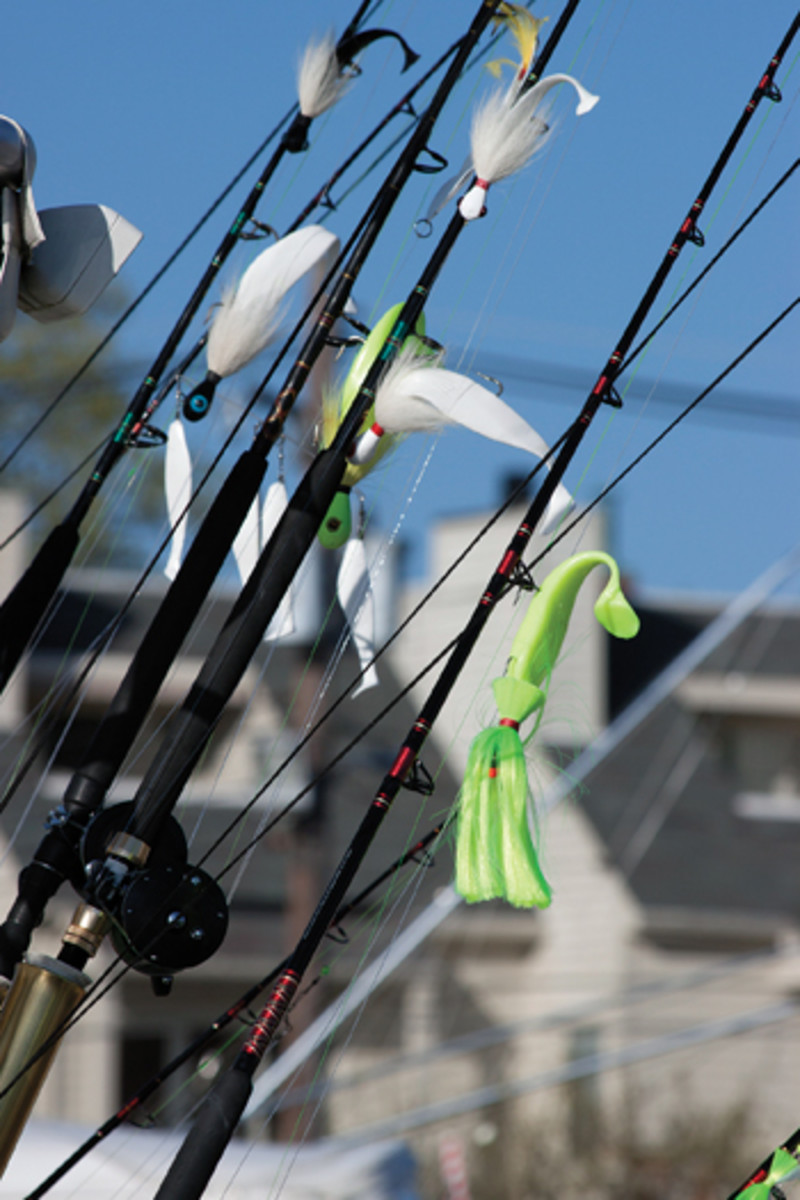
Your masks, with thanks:
M359 395L359 390L367 377L369 367L375 361L386 338L395 328L395 323L397 322L402 310L403 305L396 304L392 308L384 313L353 359L353 364L347 373L341 392L338 395L333 394L325 400L323 406L323 431L320 439L323 448L329 446L333 440L342 419L350 408L355 397ZM415 336L415 334L417 336ZM419 347L420 354L429 354L431 350L421 341L425 336L423 313L420 314L416 322L415 334L410 334L409 337L405 338L405 343L411 341ZM374 420L375 416L373 406L361 422L357 438L359 442L374 425ZM331 500L331 506L325 515L325 520L323 521L318 534L320 542L326 550L337 550L339 546L343 546L350 536L353 528L353 520L350 516L350 490L355 487L356 484L360 484L365 475L367 475L372 468L377 466L379 460L383 458L392 444L392 438L380 437L380 434L378 434L374 440L374 450L368 457L363 456L363 461L359 462L348 461L342 478L342 486Z

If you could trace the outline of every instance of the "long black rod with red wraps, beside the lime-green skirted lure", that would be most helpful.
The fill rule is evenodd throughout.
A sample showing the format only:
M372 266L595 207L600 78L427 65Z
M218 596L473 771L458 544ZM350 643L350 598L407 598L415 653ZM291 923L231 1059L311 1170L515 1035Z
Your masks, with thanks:
M457 644L451 653L441 674L433 686L428 700L421 709L411 730L409 731L395 762L384 776L378 792L373 797L359 828L356 829L349 846L347 847L338 866L333 871L330 882L323 893L320 901L312 914L306 929L297 941L287 968L282 972L272 994L261 1009L258 1020L251 1030L251 1036L243 1049L239 1052L233 1066L219 1078L213 1086L178 1154L170 1166L162 1187L157 1193L157 1200L194 1200L200 1196L205 1184L210 1180L222 1152L228 1144L233 1130L243 1111L243 1108L252 1091L252 1079L255 1069L269 1046L271 1045L278 1027L290 1006L297 989L302 982L306 970L330 924L331 916L337 911L343 895L361 865L380 824L389 812L401 787L408 780L411 769L416 764L421 750L431 732L441 707L452 690L461 670L467 661L469 653L475 646L477 637L483 629L495 604L510 587L517 581L517 568L525 546L528 545L535 527L540 523L545 508L569 462L575 456L577 448L585 434L589 424L602 403L616 407L619 400L613 390L614 379L618 374L618 365L621 362L626 349L630 347L638 329L644 322L657 292L666 280L674 262L679 257L684 245L696 234L697 218L702 211L714 185L720 178L724 166L730 158L736 143L744 133L747 122L759 102L768 96L777 100L780 94L772 84L772 77L786 53L786 49L800 28L800 14L792 23L788 32L782 40L778 50L770 60L766 71L762 76L745 112L740 116L736 126L728 138L723 150L716 160L711 172L700 188L696 200L691 205L686 218L679 227L678 234L673 239L661 266L657 269L652 282L639 301L633 317L628 322L622 337L615 350L610 355L606 367L600 374L597 383L584 402L583 409L575 421L561 446L551 473L545 479L537 496L530 504L523 521L511 539L498 568L492 575L488 586L481 595L476 608L473 612L464 630L458 637Z

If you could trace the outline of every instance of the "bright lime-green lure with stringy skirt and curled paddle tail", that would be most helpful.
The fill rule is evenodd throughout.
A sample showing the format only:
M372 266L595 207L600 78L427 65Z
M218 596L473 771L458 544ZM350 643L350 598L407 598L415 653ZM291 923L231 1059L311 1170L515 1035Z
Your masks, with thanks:
M521 908L546 908L551 902L551 887L536 853L536 818L529 803L519 726L536 713L525 742L539 728L578 592L600 565L608 568L610 578L595 604L597 620L614 637L633 637L639 629L609 554L575 554L551 571L534 595L513 640L506 672L492 684L499 721L473 742L461 791L456 890L470 902L499 898Z

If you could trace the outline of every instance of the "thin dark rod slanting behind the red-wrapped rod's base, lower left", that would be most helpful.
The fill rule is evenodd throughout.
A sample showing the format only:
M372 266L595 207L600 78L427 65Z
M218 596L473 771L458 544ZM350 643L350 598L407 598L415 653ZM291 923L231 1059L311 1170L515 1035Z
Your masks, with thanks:
M353 912L355 912L355 910L359 908L359 906L363 904L363 901L368 899L368 896L371 896L372 893L381 886L381 883L392 878L409 863L416 863L417 865L422 863L423 865L428 865L426 858L421 856L427 856L428 846L441 835L445 824L446 822L440 822L428 829L422 838L420 838L413 846L395 859L390 866L377 875L371 883L367 883L366 887L349 899L347 904L342 905L331 922L331 936L333 932L338 935L342 923ZM338 936L336 940L341 941ZM239 996L233 1004L225 1008L223 1013L219 1013L219 1015L216 1016L205 1027L205 1030L198 1033L197 1037L188 1043L188 1045L186 1045L179 1054L175 1055L174 1058L166 1063L158 1072L156 1072L155 1075L143 1084L142 1087L133 1093L133 1096L130 1096L125 1104L122 1104L118 1111L113 1114L113 1116L108 1117L107 1121L98 1126L97 1129L95 1129L95 1132L86 1138L86 1140L82 1142L68 1158L65 1158L65 1160L60 1163L60 1165L56 1166L56 1169L52 1171L50 1175L48 1175L47 1178L34 1189L34 1192L30 1192L25 1196L25 1200L40 1200L40 1196L46 1195L53 1184L58 1183L59 1180L62 1180L73 1166L77 1166L77 1164L95 1148L95 1146L100 1145L100 1142L108 1138L110 1133L114 1133L115 1129L119 1129L121 1124L128 1122L131 1117L142 1108L142 1105L145 1104L145 1102L149 1100L156 1091L158 1091L162 1084L174 1075L175 1072L184 1066L184 1063L190 1062L196 1055L198 1055L228 1025L237 1019L241 1019L242 1013L247 1012L253 1001L277 978L285 965L287 960L279 962L276 967L272 967L269 974L265 974L258 980L258 983L254 983L251 988L242 992L242 995Z

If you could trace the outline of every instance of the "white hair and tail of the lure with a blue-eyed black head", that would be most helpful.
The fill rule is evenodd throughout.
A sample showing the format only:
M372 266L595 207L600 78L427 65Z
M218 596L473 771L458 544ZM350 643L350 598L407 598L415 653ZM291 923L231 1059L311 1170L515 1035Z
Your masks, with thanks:
M307 226L261 251L222 296L209 330L209 371L224 379L260 354L277 335L285 294L338 245L327 229Z

